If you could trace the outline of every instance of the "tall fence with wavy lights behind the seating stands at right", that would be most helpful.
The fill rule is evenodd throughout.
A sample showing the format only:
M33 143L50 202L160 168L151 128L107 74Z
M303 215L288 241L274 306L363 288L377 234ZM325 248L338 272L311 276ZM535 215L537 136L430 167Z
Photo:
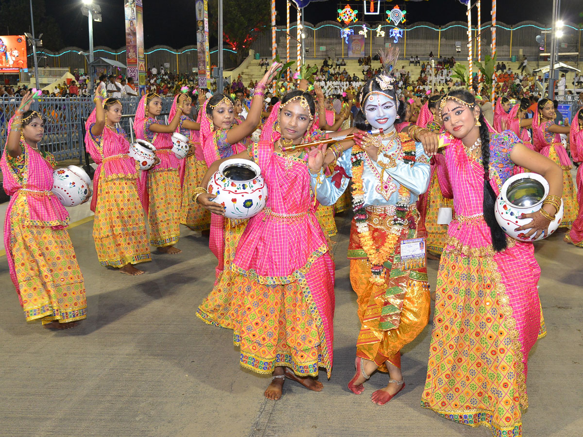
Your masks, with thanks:
M366 53L365 55L373 56L379 49L384 48L385 44L392 43L393 38L389 37L389 31L394 27L387 22L357 22L350 26L341 26L337 21L325 21L318 24L305 23L305 57L322 58L330 57L348 57L348 45L340 37L340 30L349 27L354 34L359 34L366 26ZM380 29L378 28L380 26ZM377 29L380 30L377 33ZM434 57L455 57L461 59L468 58L468 23L455 21L445 26L435 26L428 22L411 23L407 26L402 25L403 37L398 41L401 47L401 56L410 57L419 55L420 58L429 56L433 51ZM296 59L297 40L296 23L290 26L290 59ZM535 38L538 35L548 38L550 27L545 24L524 21L518 24L509 25L503 22L496 22L496 52L501 60L510 59L513 56L517 58L521 54L526 55L531 61L538 58L541 51ZM564 36L558 43L560 60L570 60L578 62L583 60L581 54L581 37L583 29L577 24L566 23L563 28ZM384 35L383 35L384 33ZM476 36L478 33L477 26L472 27L473 37L473 57L477 57ZM482 56L490 53L491 43L491 22L486 22L480 27L480 36L482 38ZM278 44L278 54L280 58L286 58L286 27L278 26L276 31L276 40ZM460 52L456 52L456 42L460 43ZM271 33L262 34L251 48L261 57L271 58ZM321 48L324 48L321 50ZM550 40L545 43L543 53L550 51ZM561 55L569 53L570 55Z

